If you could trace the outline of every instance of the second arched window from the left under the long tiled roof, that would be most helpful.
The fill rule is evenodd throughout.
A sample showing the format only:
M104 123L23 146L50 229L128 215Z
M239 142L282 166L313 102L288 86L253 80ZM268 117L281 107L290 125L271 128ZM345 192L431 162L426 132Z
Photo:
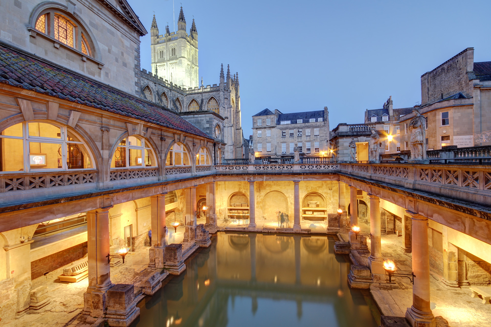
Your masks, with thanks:
M112 155L111 168L157 167L150 143L136 135L119 142Z

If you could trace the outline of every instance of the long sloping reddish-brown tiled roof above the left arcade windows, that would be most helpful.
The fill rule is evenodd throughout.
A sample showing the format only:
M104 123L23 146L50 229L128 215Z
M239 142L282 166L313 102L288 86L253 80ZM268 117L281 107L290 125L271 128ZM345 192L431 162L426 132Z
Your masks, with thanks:
M210 138L173 112L1 45L0 82Z

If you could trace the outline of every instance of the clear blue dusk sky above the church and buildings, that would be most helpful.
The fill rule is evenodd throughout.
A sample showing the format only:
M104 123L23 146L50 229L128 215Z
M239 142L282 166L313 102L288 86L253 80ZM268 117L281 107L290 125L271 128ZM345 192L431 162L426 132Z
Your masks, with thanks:
M150 25L173 27L172 0L129 0L148 30L141 68L150 70ZM175 5L175 29L181 6ZM362 123L365 109L421 101L420 76L468 47L491 61L491 1L183 0L198 30L199 78L219 82L220 64L239 72L242 126L269 108L329 109L330 128ZM226 71L225 71L226 72Z

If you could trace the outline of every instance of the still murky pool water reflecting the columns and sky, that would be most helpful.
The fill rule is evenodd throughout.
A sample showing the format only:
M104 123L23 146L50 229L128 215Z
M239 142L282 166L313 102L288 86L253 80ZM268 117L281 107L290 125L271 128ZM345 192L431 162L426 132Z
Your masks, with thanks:
M376 327L326 236L219 232L153 297L134 327Z

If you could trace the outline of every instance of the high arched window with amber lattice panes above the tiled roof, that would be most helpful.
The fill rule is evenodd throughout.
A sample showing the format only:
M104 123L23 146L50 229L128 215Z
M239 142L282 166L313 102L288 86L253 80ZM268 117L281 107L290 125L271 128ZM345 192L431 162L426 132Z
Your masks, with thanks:
M51 19L53 19L53 30L48 28L51 25ZM48 11L37 18L34 28L87 56L93 56L85 32L81 31L79 37L80 25L65 15Z

